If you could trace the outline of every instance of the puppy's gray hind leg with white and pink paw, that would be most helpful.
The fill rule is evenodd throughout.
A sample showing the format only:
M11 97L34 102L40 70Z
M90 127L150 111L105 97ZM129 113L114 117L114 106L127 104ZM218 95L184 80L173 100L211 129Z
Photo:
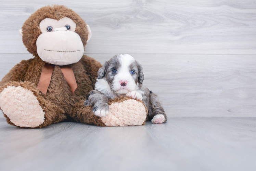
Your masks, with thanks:
M164 123L167 121L163 105L154 93L150 94L150 109L149 119L152 119L152 123Z

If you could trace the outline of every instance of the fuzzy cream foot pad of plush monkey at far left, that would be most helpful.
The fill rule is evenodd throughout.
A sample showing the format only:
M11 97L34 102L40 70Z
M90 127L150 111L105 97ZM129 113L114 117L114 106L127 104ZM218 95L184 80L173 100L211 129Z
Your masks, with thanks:
M19 127L35 128L44 121L44 111L36 96L21 86L8 86L0 93L0 107Z

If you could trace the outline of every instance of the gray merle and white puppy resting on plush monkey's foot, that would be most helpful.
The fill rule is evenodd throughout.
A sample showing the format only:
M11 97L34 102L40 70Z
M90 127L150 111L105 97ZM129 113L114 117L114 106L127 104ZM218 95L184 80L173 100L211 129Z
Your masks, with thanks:
M109 113L109 99L128 96L144 102L149 112L148 120L152 123L166 122L161 102L156 94L143 86L143 80L142 67L131 55L115 55L99 69L95 90L88 94L85 106L94 106L94 114L104 117Z

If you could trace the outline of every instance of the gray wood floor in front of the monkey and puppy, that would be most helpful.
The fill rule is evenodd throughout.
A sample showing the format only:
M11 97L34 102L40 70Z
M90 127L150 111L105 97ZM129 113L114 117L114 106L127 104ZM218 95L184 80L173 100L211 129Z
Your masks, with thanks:
M256 118L169 118L135 127L62 122L19 129L0 118L0 170L256 168Z

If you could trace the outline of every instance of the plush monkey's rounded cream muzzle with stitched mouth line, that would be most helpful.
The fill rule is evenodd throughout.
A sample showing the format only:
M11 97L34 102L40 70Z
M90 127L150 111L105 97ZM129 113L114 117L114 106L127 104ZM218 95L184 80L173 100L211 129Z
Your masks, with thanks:
M37 38L37 53L47 63L69 65L77 63L84 54L80 36L65 27L44 32Z

